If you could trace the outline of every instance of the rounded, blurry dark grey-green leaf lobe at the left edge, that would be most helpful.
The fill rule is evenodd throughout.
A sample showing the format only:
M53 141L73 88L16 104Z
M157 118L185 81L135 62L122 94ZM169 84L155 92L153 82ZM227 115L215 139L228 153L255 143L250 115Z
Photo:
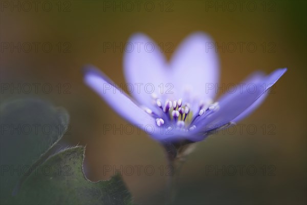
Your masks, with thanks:
M69 114L37 98L1 104L1 203L11 197L20 178L34 161L43 162L68 128ZM39 158L39 160L37 160Z

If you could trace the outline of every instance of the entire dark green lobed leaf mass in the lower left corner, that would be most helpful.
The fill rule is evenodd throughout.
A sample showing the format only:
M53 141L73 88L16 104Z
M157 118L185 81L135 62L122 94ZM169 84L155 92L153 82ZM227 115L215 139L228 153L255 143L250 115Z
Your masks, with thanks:
M1 204L131 204L120 175L86 179L83 147L55 149L68 123L65 109L40 99L1 105Z

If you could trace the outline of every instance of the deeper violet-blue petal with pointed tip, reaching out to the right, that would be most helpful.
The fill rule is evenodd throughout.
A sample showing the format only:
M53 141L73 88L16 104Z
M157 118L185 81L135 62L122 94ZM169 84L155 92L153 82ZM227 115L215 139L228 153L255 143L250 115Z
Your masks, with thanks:
M277 69L268 76L262 77L255 84L246 84L243 86L243 89L237 89L234 94L223 96L218 100L220 102L220 110L207 116L200 122L203 126L202 130L209 131L224 126L240 114L244 114L244 111L272 87L286 71L287 68ZM250 85L253 85L253 87Z

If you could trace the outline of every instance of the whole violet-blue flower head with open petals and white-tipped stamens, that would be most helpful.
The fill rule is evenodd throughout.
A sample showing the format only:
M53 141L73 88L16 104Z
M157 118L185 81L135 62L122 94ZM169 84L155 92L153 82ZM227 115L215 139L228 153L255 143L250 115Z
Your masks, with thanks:
M287 71L256 72L213 101L220 65L212 42L205 33L193 33L167 62L149 37L141 33L131 36L123 67L132 97L92 66L86 67L84 80L119 115L152 138L171 143L200 141L254 111Z

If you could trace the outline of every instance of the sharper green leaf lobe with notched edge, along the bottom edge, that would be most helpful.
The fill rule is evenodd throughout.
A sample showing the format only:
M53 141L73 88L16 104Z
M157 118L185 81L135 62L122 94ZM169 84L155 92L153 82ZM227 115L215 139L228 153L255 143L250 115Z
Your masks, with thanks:
M120 175L92 182L83 174L83 147L51 156L24 181L13 203L23 204L131 204Z

